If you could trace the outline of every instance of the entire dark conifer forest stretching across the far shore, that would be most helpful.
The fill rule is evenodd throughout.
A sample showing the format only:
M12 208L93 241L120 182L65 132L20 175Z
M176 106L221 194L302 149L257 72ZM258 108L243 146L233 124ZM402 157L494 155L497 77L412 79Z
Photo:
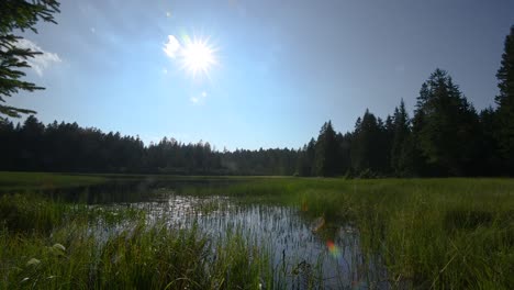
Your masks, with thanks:
M436 69L410 116L403 100L386 119L366 110L355 130L336 133L326 122L300 149L214 150L209 143L103 133L76 123L42 124L33 115L0 122L0 170L444 177L514 175L514 26L498 70L495 108L478 112Z

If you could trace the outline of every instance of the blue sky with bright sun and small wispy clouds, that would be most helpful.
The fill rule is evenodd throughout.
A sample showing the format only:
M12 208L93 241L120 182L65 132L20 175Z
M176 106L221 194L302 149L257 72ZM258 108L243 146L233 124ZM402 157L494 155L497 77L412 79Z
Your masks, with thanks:
M10 105L44 123L299 148L325 121L382 119L445 69L481 110L494 103L511 0L62 1L57 25L20 45L44 52Z

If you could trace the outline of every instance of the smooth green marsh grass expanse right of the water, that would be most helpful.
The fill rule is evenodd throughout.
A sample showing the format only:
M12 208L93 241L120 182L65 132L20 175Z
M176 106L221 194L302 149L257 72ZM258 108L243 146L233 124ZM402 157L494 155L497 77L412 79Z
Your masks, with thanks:
M195 190L298 207L358 228L400 288L514 288L514 180L250 180Z

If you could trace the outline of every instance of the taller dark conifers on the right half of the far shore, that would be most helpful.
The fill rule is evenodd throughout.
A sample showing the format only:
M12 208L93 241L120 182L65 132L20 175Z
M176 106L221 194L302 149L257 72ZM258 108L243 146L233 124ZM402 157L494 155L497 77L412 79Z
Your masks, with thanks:
M446 177L514 175L514 26L498 70L496 108L478 112L436 69L411 118L403 100L386 120L366 110L354 132L326 122L300 152L301 176Z

